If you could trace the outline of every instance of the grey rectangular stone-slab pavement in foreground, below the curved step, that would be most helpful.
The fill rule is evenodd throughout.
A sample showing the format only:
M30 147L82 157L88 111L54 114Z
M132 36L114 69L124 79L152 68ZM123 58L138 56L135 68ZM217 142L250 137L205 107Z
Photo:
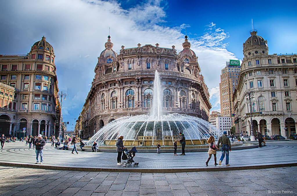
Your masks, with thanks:
M0 195L297 195L297 167L130 173L0 166Z

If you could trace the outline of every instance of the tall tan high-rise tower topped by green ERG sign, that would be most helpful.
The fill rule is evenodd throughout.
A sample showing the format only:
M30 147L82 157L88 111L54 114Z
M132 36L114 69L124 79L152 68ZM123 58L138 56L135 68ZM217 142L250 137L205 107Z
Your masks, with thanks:
M231 117L232 124L234 124L235 119L235 117L232 116L232 114L234 114L234 102L232 97L237 86L240 68L240 66L230 65L230 62L226 62L226 67L221 70L221 83L219 84L221 114L222 116Z

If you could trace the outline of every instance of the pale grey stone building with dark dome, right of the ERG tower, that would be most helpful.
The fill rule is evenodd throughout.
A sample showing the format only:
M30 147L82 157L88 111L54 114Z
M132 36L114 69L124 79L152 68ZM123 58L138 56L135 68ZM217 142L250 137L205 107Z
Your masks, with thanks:
M233 94L236 131L250 135L252 112L254 132L287 138L297 129L297 55L268 54L267 40L257 30L250 34L243 44L244 59ZM252 92L251 100L247 91Z

